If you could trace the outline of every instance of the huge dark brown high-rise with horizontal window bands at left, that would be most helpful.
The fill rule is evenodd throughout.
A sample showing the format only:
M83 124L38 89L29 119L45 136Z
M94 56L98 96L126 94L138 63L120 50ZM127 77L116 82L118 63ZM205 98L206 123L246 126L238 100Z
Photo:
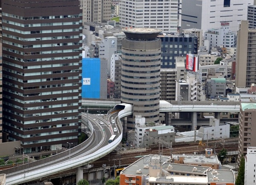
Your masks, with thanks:
M79 0L5 0L3 140L24 152L78 144L81 125Z

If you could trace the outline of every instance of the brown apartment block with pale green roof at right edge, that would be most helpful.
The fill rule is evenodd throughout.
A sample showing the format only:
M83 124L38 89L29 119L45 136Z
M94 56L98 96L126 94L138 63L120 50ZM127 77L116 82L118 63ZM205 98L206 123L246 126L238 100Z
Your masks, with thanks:
M256 103L241 103L239 114L239 160L247 154L248 146L256 146L256 139L253 133L256 132Z

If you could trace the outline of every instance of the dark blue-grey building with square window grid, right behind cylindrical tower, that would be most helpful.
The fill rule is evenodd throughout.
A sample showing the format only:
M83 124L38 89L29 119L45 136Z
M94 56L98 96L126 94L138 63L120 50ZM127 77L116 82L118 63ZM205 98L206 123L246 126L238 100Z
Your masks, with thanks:
M161 68L175 68L176 57L197 54L198 37L196 34L164 33L158 38L161 39Z

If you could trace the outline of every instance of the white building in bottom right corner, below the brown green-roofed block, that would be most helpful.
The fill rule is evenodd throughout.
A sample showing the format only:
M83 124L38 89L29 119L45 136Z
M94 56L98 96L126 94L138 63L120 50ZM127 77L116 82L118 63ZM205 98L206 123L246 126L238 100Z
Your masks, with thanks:
M244 164L244 185L253 185L256 182L256 147L248 146Z

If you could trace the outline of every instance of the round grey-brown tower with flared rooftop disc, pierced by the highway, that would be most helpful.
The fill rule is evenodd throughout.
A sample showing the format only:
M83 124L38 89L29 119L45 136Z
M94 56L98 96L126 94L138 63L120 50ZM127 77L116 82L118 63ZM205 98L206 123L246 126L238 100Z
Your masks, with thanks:
M122 40L121 101L133 104L134 114L159 122L161 32L154 28L125 28ZM129 121L128 123L131 123Z

